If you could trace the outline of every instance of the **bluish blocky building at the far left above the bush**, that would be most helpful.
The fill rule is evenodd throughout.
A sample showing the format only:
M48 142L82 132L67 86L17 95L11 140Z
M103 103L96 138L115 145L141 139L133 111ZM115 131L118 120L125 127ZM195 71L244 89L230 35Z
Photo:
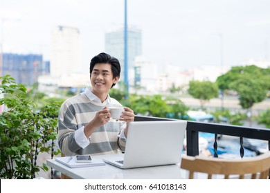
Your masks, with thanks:
M17 83L32 85L44 74L41 54L3 54L3 75L10 74Z

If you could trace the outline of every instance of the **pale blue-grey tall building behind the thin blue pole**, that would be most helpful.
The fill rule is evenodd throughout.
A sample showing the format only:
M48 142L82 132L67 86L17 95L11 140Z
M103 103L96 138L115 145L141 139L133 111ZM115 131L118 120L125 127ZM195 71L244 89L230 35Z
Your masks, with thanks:
M135 58L142 55L141 30L129 28L127 30L128 66L134 72ZM121 69L124 69L124 29L110 30L105 34L105 51L120 61ZM123 72L121 76L123 76ZM133 76L134 77L134 76ZM121 78L123 80L123 78Z

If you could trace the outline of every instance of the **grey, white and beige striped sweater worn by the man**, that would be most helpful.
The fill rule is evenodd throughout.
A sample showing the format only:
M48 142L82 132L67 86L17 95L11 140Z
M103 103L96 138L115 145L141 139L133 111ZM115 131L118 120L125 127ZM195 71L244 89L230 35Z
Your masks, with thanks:
M110 103L120 105L115 99L110 99ZM58 144L63 154L115 154L125 150L125 139L118 139L118 134L126 123L112 119L91 134L91 142L86 148L81 148L75 142L75 130L87 125L96 116L96 112L105 106L107 103L89 100L84 92L64 101L58 117Z

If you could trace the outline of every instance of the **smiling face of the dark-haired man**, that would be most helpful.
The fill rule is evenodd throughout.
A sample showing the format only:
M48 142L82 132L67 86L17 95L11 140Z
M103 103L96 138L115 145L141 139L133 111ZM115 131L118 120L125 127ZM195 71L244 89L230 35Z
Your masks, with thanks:
M92 92L99 96L100 94L108 94L113 83L117 83L118 77L113 78L111 65L108 63L96 63L90 76L92 84Z

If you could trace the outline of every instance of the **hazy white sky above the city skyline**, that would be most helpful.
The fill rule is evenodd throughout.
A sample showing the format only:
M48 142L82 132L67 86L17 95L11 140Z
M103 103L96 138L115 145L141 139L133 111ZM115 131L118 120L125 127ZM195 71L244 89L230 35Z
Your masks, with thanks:
M3 52L50 60L55 26L78 28L82 70L105 52L105 32L124 23L124 0L0 0ZM127 0L127 22L142 31L143 57L187 69L270 60L269 0Z

